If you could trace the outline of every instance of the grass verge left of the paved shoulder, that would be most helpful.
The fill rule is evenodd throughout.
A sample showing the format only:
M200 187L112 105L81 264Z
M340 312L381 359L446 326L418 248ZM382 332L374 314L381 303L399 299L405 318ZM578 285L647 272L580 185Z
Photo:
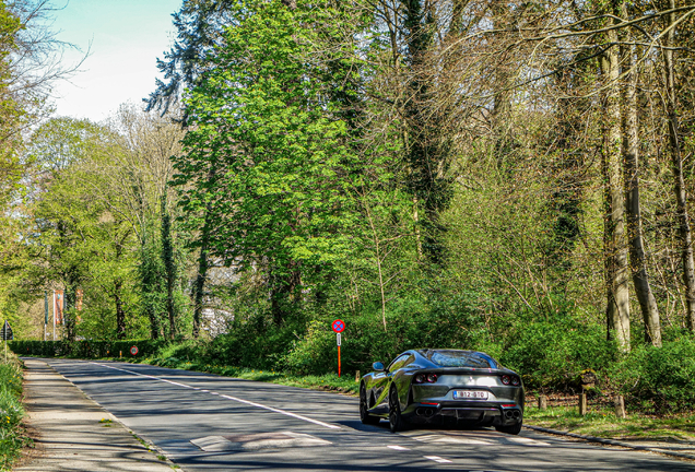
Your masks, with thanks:
M20 451L32 440L21 425L22 364L13 353L0 357L0 470L9 471Z

